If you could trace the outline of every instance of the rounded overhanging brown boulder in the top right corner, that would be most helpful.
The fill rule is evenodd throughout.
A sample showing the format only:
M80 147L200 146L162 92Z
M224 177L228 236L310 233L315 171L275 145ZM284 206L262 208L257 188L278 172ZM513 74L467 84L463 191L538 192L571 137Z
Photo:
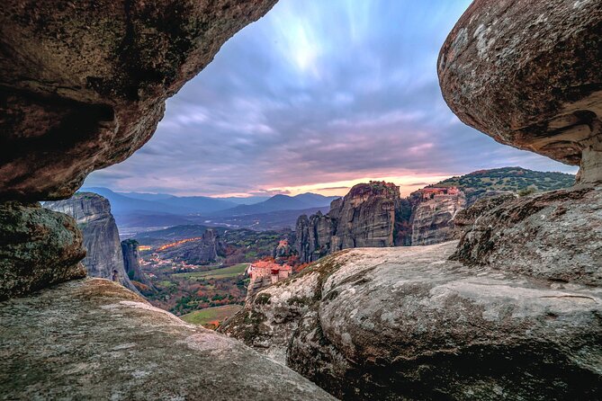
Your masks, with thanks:
M602 3L475 0L441 49L445 102L497 141L602 181Z

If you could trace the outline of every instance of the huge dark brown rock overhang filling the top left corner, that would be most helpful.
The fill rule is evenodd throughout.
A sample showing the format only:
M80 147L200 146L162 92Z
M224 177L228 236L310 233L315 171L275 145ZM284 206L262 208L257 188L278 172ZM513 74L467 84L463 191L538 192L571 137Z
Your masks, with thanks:
M166 98L275 2L4 1L0 199L65 199L125 160Z

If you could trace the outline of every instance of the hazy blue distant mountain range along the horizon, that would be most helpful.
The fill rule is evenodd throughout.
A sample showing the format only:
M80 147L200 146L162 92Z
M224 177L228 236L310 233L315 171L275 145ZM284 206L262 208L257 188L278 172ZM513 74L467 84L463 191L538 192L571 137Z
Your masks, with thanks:
M289 215L308 209L328 209L337 197L317 193L301 193L295 196L210 198L206 196L175 196L167 193L113 192L103 187L82 188L79 192L94 192L111 202L112 214L121 227L159 227L211 219L213 224L232 224L238 218L243 226L253 220L292 220ZM242 203L245 202L245 203ZM290 211L291 213L284 213ZM278 212L277 216L265 215ZM286 218L284 218L286 216ZM247 217L240 219L240 217ZM224 220L224 221L221 221ZM228 220L228 222L226 222ZM259 223L261 225L261 223ZM289 224L285 224L289 226Z

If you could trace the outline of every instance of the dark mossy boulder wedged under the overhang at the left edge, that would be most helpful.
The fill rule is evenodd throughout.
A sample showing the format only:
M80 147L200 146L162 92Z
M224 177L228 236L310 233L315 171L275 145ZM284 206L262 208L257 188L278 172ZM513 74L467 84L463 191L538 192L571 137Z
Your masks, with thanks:
M40 203L0 203L0 299L85 277L76 222Z

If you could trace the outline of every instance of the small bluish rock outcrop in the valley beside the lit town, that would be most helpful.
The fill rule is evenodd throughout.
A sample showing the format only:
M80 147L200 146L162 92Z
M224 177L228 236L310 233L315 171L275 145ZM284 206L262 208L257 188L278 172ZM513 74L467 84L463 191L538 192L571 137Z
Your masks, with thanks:
M209 264L215 262L218 255L223 254L224 249L225 245L218 232L213 228L207 228L200 240L166 251L165 257L192 264Z

